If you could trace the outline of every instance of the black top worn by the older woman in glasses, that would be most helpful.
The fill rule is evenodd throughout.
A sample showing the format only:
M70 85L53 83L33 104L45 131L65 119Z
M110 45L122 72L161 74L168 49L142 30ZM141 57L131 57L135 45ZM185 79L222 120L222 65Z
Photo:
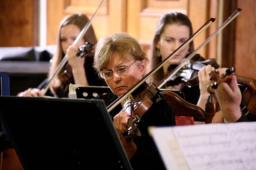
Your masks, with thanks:
M132 96L138 94L147 86L147 83L142 84L133 93ZM97 99L103 99L106 105L110 105L118 98L114 94L106 94L99 96ZM161 99L161 100L158 100ZM150 137L147 127L148 126L163 126L175 125L175 117L171 106L167 101L161 98L158 93L152 98L153 104L148 111L142 116L143 124L139 124L139 131L142 134L140 137L134 138L133 141L137 146L137 152L130 160L133 169L165 169L162 160L159 156L156 146ZM113 108L109 113L111 118L121 111L121 104Z

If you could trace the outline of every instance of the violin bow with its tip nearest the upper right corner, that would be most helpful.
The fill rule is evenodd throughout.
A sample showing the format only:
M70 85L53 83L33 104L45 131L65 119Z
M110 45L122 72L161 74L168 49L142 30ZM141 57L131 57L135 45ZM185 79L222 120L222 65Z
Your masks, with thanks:
M196 49L194 50L183 62L181 62L173 71L167 74L157 85L157 88L161 88L167 81L169 81L182 67L190 63L190 59L196 55L197 51L204 47L208 42L213 38L213 36L219 33L222 29L224 29L235 17L237 17L240 12L242 11L241 8L237 8L229 17L228 19L223 22L208 38Z

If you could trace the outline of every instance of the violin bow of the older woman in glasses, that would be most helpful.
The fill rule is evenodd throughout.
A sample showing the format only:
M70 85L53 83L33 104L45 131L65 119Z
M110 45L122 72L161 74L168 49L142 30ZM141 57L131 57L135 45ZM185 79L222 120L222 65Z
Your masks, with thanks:
M181 50L183 50L189 43L196 38L199 34L201 34L205 29L207 29L213 22L215 18L210 18L208 21L203 24L201 28L198 29L193 35L189 37L181 46L179 46L172 54L166 57L161 63L155 66L148 74L146 74L140 81L138 81L135 85L133 85L129 90L127 90L123 95L121 95L118 99L112 102L106 109L110 112L114 107L116 107L121 101L123 101L128 95L130 95L136 88L138 88L141 84L143 84L152 74L157 72L168 60L173 58L176 54L178 54Z

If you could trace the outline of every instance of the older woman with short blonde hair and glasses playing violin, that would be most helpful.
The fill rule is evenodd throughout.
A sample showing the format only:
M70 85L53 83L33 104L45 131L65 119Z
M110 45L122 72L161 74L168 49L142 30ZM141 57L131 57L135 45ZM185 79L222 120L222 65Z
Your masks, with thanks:
M113 94L99 96L106 105L111 104L143 78L148 58L138 41L126 33L115 33L99 39L95 48L94 68L105 79ZM144 82L127 98L139 94L148 84ZM133 100L132 100L133 101ZM133 169L163 169L157 149L147 131L147 126L175 125L172 108L159 92L152 97L153 104L142 115L143 124L138 126L140 137L126 141L122 132L129 128L130 115L121 111L119 104L110 111L113 125L119 134Z

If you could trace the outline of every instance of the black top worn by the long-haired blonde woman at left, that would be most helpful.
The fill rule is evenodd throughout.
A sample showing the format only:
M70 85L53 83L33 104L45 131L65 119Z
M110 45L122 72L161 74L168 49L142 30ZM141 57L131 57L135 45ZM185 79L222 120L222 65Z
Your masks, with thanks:
M93 68L93 57L85 57L84 68L86 78L90 86L107 86L105 80L99 78L96 70ZM42 89L46 83L48 83L48 79L45 79L37 88ZM75 81L73 80L71 83L75 84ZM68 97L68 90L62 89L58 91L56 95L53 95L51 90L48 90L45 95L54 97Z

